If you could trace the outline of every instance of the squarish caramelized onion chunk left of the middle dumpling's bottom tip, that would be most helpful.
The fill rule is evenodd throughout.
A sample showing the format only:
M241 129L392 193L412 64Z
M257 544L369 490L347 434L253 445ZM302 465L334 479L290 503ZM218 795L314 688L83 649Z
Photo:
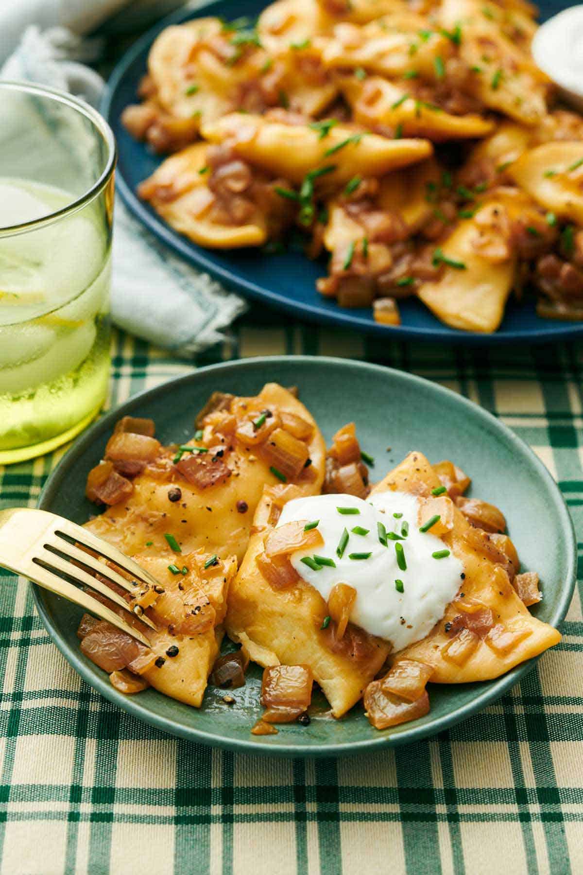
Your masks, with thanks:
M261 704L266 723L291 723L307 711L312 699L312 669L307 665L275 665L263 672Z

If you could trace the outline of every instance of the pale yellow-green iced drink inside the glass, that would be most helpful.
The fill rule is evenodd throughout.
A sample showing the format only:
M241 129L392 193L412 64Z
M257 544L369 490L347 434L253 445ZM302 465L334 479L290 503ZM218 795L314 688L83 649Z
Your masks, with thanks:
M106 394L106 199L2 235L3 228L58 213L74 200L52 186L0 179L0 462L13 460L3 457L14 457L17 448L79 430Z

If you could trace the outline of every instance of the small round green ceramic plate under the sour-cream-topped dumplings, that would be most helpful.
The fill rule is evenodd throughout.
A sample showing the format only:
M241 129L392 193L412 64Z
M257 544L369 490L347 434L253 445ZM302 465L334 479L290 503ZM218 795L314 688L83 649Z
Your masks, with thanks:
M524 565L538 570L545 599L534 613L553 626L563 620L575 583L576 544L565 503L544 465L494 416L459 395L411 374L363 362L307 356L233 361L135 395L77 440L48 480L40 507L75 522L87 520L94 512L84 497L87 472L101 459L120 416L151 416L157 437L165 443L179 442L191 436L194 416L213 390L254 395L266 381L296 385L327 441L339 426L354 420L362 445L376 458L375 478L380 479L410 450L420 450L434 461L455 459L471 475L472 493L503 508ZM224 692L212 688L199 710L156 690L125 697L81 654L75 634L80 610L44 590L34 590L38 612L53 641L104 697L165 732L250 753L334 756L422 739L494 702L534 662L488 683L431 684L427 717L384 732L372 729L357 705L342 720L316 717L307 727L285 725L278 735L256 738L249 730L262 711L260 669L250 669L245 687L234 691L234 705L224 704Z

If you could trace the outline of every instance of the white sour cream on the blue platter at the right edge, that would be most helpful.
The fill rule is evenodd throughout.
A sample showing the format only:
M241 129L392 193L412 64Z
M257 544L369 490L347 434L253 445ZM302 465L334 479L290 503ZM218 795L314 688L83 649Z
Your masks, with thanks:
M535 62L583 106L583 5L559 12L532 40Z

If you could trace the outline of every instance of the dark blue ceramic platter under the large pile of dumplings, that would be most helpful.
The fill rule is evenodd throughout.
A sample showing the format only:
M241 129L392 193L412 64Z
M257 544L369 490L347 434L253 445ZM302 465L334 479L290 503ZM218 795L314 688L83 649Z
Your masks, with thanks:
M301 252L266 255L260 250L233 249L213 251L196 246L184 235L163 222L154 210L142 203L136 187L154 172L161 158L142 143L137 143L123 128L120 118L128 103L136 102L137 86L146 72L149 48L157 34L168 25L182 24L205 15L233 19L241 15L256 16L267 5L265 0L213 0L196 11L180 10L165 18L139 39L121 59L109 81L102 111L114 130L119 151L117 186L122 200L137 218L178 255L198 268L207 270L226 286L246 297L264 302L296 318L329 325L341 325L387 339L445 340L448 343L482 343L486 345L516 341L552 342L583 336L583 324L538 318L532 301L511 301L503 324L496 334L457 331L442 325L419 301L407 300L401 306L403 324L390 328L378 325L370 309L346 310L326 300L316 291L316 279L326 273L325 262L310 262ZM559 11L563 4L545 4L543 18Z

